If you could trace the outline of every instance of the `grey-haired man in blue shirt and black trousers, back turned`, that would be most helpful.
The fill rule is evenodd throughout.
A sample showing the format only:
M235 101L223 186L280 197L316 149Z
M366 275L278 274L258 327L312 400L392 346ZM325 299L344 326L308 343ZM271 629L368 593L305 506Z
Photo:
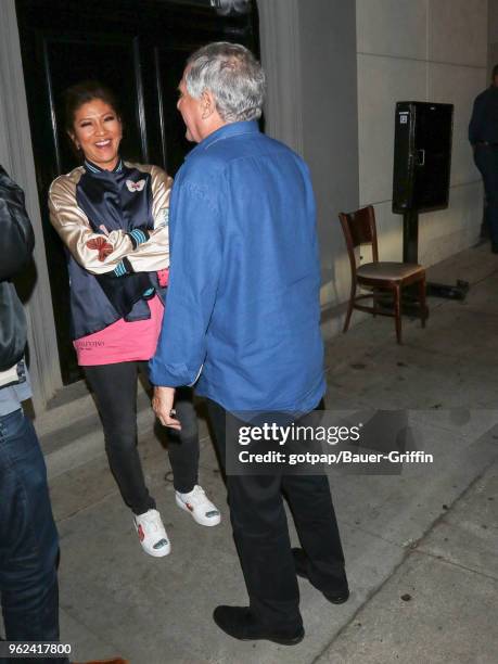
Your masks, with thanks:
M178 429L174 387L196 382L222 462L238 444L227 429L233 413L299 417L325 390L309 173L289 148L259 132L264 90L250 51L226 42L196 51L179 85L187 138L199 144L171 194L153 406L163 424ZM304 629L296 571L330 601L348 597L328 481L277 470L228 473L227 487L250 606L218 606L214 620L235 638L297 643ZM304 547L294 557L282 490Z

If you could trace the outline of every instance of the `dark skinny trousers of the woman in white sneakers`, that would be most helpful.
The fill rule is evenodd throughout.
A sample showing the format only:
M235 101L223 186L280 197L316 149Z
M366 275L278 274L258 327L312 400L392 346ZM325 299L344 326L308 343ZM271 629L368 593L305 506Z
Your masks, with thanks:
M123 500L135 514L155 509L137 449L137 380L138 371L145 367L146 362L84 367L104 427L108 464ZM191 390L177 391L175 408L182 429L178 433L168 430L168 455L175 488L186 494L195 486L199 469L197 417Z

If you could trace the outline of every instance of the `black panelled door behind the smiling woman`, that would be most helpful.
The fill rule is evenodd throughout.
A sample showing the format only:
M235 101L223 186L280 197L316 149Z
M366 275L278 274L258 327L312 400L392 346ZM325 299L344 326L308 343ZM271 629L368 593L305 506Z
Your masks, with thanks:
M97 78L118 95L122 154L175 175L191 144L176 110L189 53L209 41L235 41L258 53L256 2L220 15L209 0L16 0L43 235L65 384L80 374L69 332L68 280L47 193L77 163L63 127L62 91Z

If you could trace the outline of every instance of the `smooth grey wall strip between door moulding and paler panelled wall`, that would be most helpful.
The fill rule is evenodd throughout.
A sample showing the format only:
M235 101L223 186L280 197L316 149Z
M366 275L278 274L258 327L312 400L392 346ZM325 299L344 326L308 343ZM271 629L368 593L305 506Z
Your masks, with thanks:
M355 3L299 0L304 157L318 208L321 304L341 302L350 269L337 213L358 194L358 100Z

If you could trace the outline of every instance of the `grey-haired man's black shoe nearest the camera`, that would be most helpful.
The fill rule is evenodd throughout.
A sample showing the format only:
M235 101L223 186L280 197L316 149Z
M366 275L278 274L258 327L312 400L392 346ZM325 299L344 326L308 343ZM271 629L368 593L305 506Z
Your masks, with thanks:
M216 606L213 618L220 629L241 641L264 639L281 646L296 646L304 638L303 627L286 631L261 625L248 606Z

